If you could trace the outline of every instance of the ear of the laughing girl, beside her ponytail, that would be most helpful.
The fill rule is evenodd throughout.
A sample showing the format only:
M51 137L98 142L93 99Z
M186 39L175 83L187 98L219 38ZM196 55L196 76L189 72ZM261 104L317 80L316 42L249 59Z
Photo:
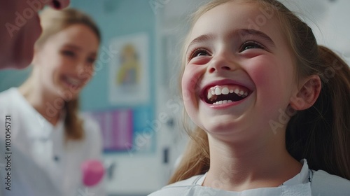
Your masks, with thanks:
M317 75L306 78L290 98L290 106L296 111L309 109L316 102L321 92L321 79Z

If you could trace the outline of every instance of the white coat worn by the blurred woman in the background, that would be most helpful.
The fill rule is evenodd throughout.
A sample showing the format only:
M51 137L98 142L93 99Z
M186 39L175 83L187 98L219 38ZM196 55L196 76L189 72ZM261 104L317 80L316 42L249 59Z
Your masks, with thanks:
M59 103L58 99L45 103L46 112L58 112ZM102 156L102 137L92 119L81 116L83 140L65 141L63 118L53 126L14 87L0 93L0 115L0 195L105 195L103 182L87 188L82 181L80 165ZM11 118L10 148L6 148L6 116ZM9 162L5 155L10 155ZM6 190L8 172L10 190Z

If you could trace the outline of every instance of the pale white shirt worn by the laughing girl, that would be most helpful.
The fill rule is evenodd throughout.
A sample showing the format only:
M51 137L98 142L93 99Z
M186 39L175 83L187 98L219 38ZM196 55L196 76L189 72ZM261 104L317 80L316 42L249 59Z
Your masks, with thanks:
M344 196L350 195L350 181L330 175L322 170L309 169L306 160L299 174L276 188L255 188L241 192L202 186L207 174L165 186L148 196ZM220 181L216 183L220 186Z

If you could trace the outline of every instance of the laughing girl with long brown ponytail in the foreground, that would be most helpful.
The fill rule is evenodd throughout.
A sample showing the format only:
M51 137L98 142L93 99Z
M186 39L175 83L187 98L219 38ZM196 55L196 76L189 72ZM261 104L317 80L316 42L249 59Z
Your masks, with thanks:
M350 71L274 0L194 15L182 94L197 125L155 195L349 195Z

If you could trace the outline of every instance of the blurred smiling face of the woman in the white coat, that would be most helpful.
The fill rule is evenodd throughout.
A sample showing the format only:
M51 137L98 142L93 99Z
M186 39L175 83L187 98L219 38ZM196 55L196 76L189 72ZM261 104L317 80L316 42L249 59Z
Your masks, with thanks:
M56 96L69 92L73 96L70 99L75 99L92 78L98 48L99 38L82 24L66 27L48 38L34 56L45 91Z

